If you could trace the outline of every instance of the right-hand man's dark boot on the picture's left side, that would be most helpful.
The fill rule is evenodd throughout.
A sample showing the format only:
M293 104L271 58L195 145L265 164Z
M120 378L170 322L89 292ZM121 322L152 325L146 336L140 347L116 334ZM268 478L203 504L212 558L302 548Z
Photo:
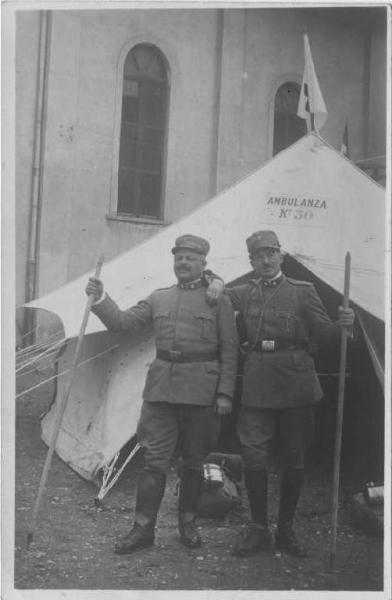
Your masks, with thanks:
M268 529L267 497L268 476L265 469L244 472L245 488L248 495L252 523L238 536L233 549L236 556L251 556L271 545Z

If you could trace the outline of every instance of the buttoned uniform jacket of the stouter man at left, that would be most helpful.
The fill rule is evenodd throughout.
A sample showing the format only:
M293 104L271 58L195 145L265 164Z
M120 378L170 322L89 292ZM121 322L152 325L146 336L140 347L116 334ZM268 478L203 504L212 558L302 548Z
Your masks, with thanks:
M206 302L202 284L155 290L128 310L109 297L93 305L93 312L111 331L135 331L152 324L160 350L184 354L217 353L216 360L169 362L156 358L149 367L143 398L149 402L211 405L216 394L233 397L238 360L238 338L230 300Z

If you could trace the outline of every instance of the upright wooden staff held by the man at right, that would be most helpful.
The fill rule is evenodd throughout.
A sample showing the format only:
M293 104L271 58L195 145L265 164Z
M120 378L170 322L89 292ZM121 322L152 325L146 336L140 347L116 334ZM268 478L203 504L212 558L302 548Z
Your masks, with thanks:
M345 270L344 270L344 295L343 308L348 308L349 291L350 291L350 267L351 256L346 253ZM335 564L336 553L336 531L338 523L338 498L339 498L339 471L340 471L340 456L342 449L342 429L343 429L343 408L344 408L344 386L346 381L346 356L347 356L347 335L346 327L342 328L340 339L340 365L339 365L339 388L338 388L338 408L336 417L336 434L335 434L335 457L333 468L333 486L332 486L332 514L331 514L331 543L330 543L330 566Z

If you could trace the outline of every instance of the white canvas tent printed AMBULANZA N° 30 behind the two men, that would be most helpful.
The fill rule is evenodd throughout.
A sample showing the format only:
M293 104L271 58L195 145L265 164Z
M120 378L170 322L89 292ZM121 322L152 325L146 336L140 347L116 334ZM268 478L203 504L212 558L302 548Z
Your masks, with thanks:
M385 191L315 134L104 264L101 279L119 306L128 308L153 289L174 283L173 242L178 235L194 233L211 243L208 267L231 282L249 272L245 238L258 229L275 230L285 252L338 292L343 289L345 253L350 251L351 300L363 314L384 320ZM58 363L60 398L89 275L29 304L57 313L69 338ZM92 480L135 433L154 344L149 332L132 339L110 334L94 315L87 334L56 451ZM42 421L46 442L57 407L55 401Z

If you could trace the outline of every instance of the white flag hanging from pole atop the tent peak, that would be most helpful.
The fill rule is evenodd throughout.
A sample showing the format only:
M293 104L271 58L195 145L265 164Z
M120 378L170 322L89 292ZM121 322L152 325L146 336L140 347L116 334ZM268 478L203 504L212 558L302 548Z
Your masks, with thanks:
M297 115L302 119L306 119L308 131L316 130L318 132L327 120L328 112L314 70L307 33L304 33L304 50L305 68Z

